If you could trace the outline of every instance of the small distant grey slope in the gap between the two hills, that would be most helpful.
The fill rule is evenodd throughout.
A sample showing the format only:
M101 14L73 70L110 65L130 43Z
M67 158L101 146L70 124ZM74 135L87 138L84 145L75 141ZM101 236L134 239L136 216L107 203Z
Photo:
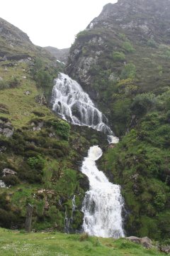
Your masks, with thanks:
M48 50L57 60L60 60L64 63L67 63L68 57L69 57L69 48L64 49L57 49L52 46L44 47L46 50Z

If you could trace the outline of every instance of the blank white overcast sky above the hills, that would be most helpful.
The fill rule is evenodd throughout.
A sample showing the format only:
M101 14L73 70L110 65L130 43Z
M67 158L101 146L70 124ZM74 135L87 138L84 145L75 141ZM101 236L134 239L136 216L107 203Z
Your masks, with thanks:
M37 46L68 48L79 31L117 0L1 0L0 17L26 32Z

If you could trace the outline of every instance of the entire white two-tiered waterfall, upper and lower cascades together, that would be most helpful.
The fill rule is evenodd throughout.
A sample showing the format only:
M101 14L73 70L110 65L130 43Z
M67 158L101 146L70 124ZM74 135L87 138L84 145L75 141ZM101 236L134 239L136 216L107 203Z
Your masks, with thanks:
M118 143L119 139L114 137L111 128L108 127L107 118L95 107L89 95L78 82L63 73L55 79L52 110L72 124L85 125L107 134L109 143ZM97 169L95 161L101 155L102 150L98 146L91 146L81 167L81 172L88 176L90 183L90 190L86 192L82 206L83 229L89 235L120 238L124 236L121 216L123 198L120 186L109 182L103 172ZM73 213L75 198L72 199L72 206ZM66 213L66 229L69 228L69 221Z

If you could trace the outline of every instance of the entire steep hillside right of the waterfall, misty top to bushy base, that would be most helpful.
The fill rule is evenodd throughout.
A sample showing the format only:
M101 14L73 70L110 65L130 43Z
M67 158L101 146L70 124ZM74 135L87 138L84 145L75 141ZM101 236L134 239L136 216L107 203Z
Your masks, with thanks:
M108 117L101 165L122 186L128 235L169 239L169 0L119 0L77 35L67 72Z

